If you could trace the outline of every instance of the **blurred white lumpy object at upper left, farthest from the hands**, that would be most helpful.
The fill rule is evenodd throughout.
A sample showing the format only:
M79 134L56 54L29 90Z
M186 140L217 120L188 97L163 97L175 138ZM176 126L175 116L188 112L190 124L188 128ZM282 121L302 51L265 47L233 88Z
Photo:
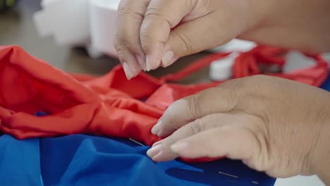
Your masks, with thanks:
M54 36L59 45L80 45L90 40L89 0L44 0L34 21L40 35Z

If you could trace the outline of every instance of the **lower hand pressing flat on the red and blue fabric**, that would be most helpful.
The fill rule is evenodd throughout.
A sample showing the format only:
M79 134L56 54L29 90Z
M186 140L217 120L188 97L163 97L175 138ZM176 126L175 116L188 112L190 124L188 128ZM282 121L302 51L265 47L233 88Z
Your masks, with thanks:
M257 75L174 102L152 133L154 161L241 159L274 177L318 174L330 183L330 94Z

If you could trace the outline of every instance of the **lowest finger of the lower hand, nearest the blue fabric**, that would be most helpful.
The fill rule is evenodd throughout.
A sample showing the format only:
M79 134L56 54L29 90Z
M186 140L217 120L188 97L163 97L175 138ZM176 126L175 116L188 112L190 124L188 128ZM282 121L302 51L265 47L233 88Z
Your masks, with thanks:
M223 125L197 133L171 146L178 156L188 159L202 157L249 160L259 151L258 140L251 130L239 125Z

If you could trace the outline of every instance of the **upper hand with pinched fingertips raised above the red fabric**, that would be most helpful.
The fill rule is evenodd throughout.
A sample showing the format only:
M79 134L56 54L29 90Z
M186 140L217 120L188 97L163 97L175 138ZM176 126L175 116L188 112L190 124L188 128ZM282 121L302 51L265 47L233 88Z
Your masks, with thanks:
M328 0L122 0L114 45L128 79L235 37L324 51L329 8Z

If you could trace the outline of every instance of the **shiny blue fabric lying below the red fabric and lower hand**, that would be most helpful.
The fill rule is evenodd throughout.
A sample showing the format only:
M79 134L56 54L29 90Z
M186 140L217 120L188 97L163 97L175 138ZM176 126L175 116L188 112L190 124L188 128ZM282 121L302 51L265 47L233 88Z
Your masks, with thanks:
M330 78L322 88L330 90ZM30 140L2 135L0 185L270 186L275 182L240 161L228 159L209 163L154 163L145 156L148 148L129 140L89 135Z

